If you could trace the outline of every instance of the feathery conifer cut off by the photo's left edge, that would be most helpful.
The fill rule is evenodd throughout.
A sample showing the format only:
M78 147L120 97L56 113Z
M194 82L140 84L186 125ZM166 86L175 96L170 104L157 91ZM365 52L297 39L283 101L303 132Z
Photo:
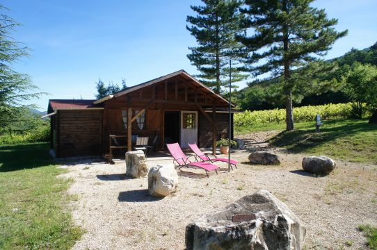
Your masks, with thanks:
M7 9L1 5L0 11L0 127L4 128L15 122L24 110L35 107L25 102L45 93L34 92L38 88L30 77L13 69L13 64L29 55L29 49L12 38L13 31L21 24L5 15Z

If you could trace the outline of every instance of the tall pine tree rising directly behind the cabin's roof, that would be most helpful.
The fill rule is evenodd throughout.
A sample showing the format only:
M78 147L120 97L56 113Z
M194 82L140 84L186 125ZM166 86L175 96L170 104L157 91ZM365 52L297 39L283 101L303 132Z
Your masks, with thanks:
M188 16L186 26L198 42L198 47L189 47L187 55L192 65L200 71L197 75L204 84L216 93L229 84L229 60L232 58L232 82L247 78L241 73L239 64L241 44L235 35L242 33L240 28L240 0L202 0L204 6L191 6L198 13ZM233 86L236 88L236 86Z

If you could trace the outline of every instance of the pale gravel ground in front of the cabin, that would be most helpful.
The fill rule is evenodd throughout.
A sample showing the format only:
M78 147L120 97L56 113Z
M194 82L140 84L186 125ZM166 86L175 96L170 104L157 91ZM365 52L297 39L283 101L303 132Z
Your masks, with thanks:
M200 169L182 169L178 191L164 199L147 195L147 177L126 177L123 161L61 166L70 170L63 176L74 179L68 190L77 195L71 203L74 220L86 230L73 249L184 249L187 224L260 189L272 192L305 224L306 249L366 249L358 225L377 222L377 165L337 161L332 174L318 177L300 171L303 156L270 150L282 165L249 165L248 151L236 151L232 158L241 164L231 172L226 163L209 178ZM172 159L148 158L150 167L157 163Z

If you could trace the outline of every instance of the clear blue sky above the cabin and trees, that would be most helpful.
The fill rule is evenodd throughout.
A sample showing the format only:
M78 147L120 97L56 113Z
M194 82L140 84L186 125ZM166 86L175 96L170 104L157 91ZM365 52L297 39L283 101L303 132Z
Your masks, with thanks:
M10 8L7 15L23 24L13 37L32 49L14 68L49 92L33 101L40 110L47 109L48 99L94 99L98 78L106 84L125 78L131 86L179 69L197 73L186 58L188 47L195 45L186 31L186 16L193 14L190 4L199 0L2 4ZM338 31L348 28L348 36L335 42L326 58L377 42L376 0L319 0L314 6L339 19Z

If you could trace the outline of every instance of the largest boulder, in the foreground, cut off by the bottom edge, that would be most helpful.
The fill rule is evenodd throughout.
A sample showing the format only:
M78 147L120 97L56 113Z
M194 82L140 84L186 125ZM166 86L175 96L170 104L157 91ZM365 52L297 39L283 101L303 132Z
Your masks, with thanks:
M260 190L186 226L186 249L301 249L305 233L282 201Z

